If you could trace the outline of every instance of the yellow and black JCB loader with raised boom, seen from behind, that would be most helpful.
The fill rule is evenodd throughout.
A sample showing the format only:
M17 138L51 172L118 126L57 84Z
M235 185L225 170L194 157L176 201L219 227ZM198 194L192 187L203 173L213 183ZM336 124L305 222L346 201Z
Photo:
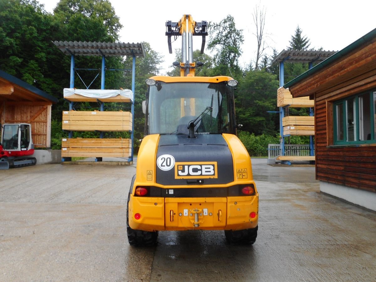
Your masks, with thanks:
M182 36L180 77L146 80L145 137L128 196L127 235L132 246L153 245L159 230L224 230L230 243L253 244L258 229L258 193L250 156L236 136L233 91L228 76L197 77L192 35L206 22L191 15L166 23Z

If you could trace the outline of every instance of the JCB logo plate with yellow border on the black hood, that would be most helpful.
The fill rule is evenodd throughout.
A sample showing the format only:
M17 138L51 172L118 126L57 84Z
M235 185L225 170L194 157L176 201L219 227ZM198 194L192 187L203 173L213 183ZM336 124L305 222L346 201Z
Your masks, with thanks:
M176 162L175 179L218 178L217 162Z

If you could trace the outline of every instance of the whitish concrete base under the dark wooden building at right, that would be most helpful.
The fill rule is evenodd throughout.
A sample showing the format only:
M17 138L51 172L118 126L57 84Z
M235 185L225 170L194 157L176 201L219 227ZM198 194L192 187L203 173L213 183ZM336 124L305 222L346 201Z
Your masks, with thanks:
M320 191L355 205L376 211L376 193L320 181Z

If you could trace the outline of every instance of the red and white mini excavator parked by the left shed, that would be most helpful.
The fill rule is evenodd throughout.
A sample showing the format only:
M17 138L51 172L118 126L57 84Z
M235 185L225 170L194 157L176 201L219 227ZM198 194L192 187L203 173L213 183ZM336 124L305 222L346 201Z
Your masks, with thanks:
M0 170L35 165L34 144L29 123L6 123L0 140Z

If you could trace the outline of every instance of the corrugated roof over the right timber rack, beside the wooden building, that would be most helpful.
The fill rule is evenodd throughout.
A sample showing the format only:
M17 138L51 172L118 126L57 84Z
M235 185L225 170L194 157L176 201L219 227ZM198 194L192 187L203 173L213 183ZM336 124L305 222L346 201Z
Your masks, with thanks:
M326 58L329 58L333 54L337 53L337 51L303 51L303 50L282 50L276 58L274 58L274 62L321 62L324 61Z

